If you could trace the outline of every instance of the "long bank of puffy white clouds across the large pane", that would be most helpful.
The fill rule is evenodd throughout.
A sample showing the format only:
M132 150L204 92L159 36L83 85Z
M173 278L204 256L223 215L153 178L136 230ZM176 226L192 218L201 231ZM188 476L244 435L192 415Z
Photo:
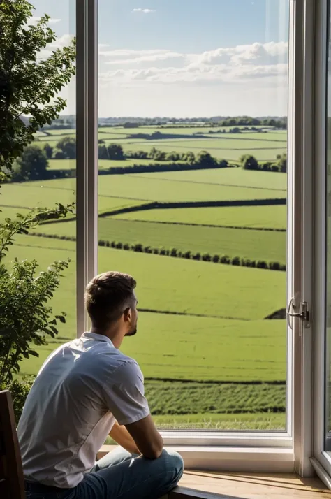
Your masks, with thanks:
M286 80L288 44L253 43L230 48L217 48L201 53L170 50L101 51L103 82L132 85L147 83L216 84L239 80Z

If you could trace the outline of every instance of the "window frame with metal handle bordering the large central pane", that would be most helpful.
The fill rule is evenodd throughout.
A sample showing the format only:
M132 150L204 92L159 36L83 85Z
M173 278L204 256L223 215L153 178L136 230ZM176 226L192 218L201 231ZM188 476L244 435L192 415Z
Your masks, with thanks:
M84 288L97 273L98 226L98 1L77 1L77 324L87 328ZM288 88L288 300L311 307L312 126L314 0L290 0ZM309 56L309 57L307 57ZM304 179L304 180L302 180ZM293 259L295 255L295 259ZM258 306L258 303L256 304ZM209 470L293 472L312 475L312 328L288 329L285 432L163 431L186 467Z

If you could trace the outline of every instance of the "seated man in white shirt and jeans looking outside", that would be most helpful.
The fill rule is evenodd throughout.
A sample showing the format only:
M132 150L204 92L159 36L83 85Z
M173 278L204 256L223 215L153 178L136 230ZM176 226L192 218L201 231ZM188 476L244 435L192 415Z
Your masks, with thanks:
M137 331L135 280L107 272L85 293L91 331L43 364L17 434L27 499L157 499L182 476L163 449L141 370L119 347ZM121 446L95 463L108 434Z

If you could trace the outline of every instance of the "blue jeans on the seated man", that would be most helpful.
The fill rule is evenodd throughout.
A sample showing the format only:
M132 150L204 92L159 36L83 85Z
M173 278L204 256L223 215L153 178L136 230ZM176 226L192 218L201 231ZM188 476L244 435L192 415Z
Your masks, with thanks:
M182 477L184 463L163 449L158 459L130 454L122 447L100 459L73 489L26 482L27 499L159 499Z

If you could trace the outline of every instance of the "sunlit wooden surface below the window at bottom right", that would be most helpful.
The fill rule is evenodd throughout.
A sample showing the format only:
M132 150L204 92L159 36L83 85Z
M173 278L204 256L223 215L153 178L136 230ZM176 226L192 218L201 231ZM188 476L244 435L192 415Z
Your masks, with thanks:
M169 499L189 499L190 497L204 499L331 499L331 491L318 478L302 479L297 475L247 475L244 473L186 471L179 482L179 487L170 493Z

